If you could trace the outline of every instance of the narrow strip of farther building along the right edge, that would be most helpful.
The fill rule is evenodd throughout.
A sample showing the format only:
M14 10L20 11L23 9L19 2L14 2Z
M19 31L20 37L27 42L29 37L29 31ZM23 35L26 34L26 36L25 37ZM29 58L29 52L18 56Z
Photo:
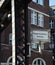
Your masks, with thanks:
M51 27L51 36L53 37L53 42L54 42L54 44L53 44L53 64L55 65L55 5L54 6L51 6L51 13L52 13L52 15L51 15L51 19L50 20L52 20L52 27Z

